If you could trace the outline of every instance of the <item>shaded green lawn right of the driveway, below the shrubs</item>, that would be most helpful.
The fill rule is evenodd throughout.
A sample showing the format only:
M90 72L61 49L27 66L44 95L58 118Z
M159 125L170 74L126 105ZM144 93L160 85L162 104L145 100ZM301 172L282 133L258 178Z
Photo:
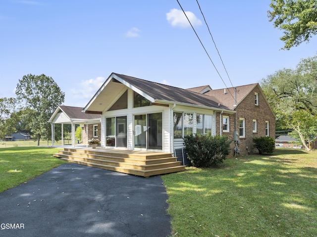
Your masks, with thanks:
M317 152L277 149L161 176L173 236L317 237Z

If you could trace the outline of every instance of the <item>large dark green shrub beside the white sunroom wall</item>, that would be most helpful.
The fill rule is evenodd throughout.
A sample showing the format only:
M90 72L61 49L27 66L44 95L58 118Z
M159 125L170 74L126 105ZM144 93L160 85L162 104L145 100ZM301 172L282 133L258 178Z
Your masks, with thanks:
M187 158L195 167L216 166L230 153L230 142L226 136L187 135L184 137Z

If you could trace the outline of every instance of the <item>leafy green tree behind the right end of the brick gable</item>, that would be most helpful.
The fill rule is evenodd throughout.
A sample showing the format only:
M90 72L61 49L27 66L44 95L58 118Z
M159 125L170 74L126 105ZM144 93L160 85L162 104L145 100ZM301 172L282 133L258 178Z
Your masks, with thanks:
M282 69L262 80L261 86L276 117L277 126L291 129L310 150L317 136L317 56L303 59L296 69Z

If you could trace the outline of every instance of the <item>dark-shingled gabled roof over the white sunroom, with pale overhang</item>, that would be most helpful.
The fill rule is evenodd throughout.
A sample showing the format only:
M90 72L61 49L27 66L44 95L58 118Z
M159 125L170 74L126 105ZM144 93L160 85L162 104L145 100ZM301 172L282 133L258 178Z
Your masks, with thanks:
M121 86L117 85L114 87L115 82L120 83ZM130 88L153 103L180 103L188 106L209 107L215 110L230 110L227 105L224 105L220 100L211 95L202 95L182 88L150 82L127 75L111 73L83 111L86 113L102 113L102 111L106 109L105 101L111 99L110 94L114 93L113 90L116 90L115 94L117 95L119 92L123 93L126 88Z

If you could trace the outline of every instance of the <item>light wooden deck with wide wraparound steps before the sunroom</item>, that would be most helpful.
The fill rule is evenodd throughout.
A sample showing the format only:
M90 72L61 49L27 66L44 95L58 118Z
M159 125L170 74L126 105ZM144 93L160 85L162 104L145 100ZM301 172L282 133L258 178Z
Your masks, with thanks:
M164 152L64 148L54 156L76 164L143 177L185 170L185 166L180 165L176 157Z

